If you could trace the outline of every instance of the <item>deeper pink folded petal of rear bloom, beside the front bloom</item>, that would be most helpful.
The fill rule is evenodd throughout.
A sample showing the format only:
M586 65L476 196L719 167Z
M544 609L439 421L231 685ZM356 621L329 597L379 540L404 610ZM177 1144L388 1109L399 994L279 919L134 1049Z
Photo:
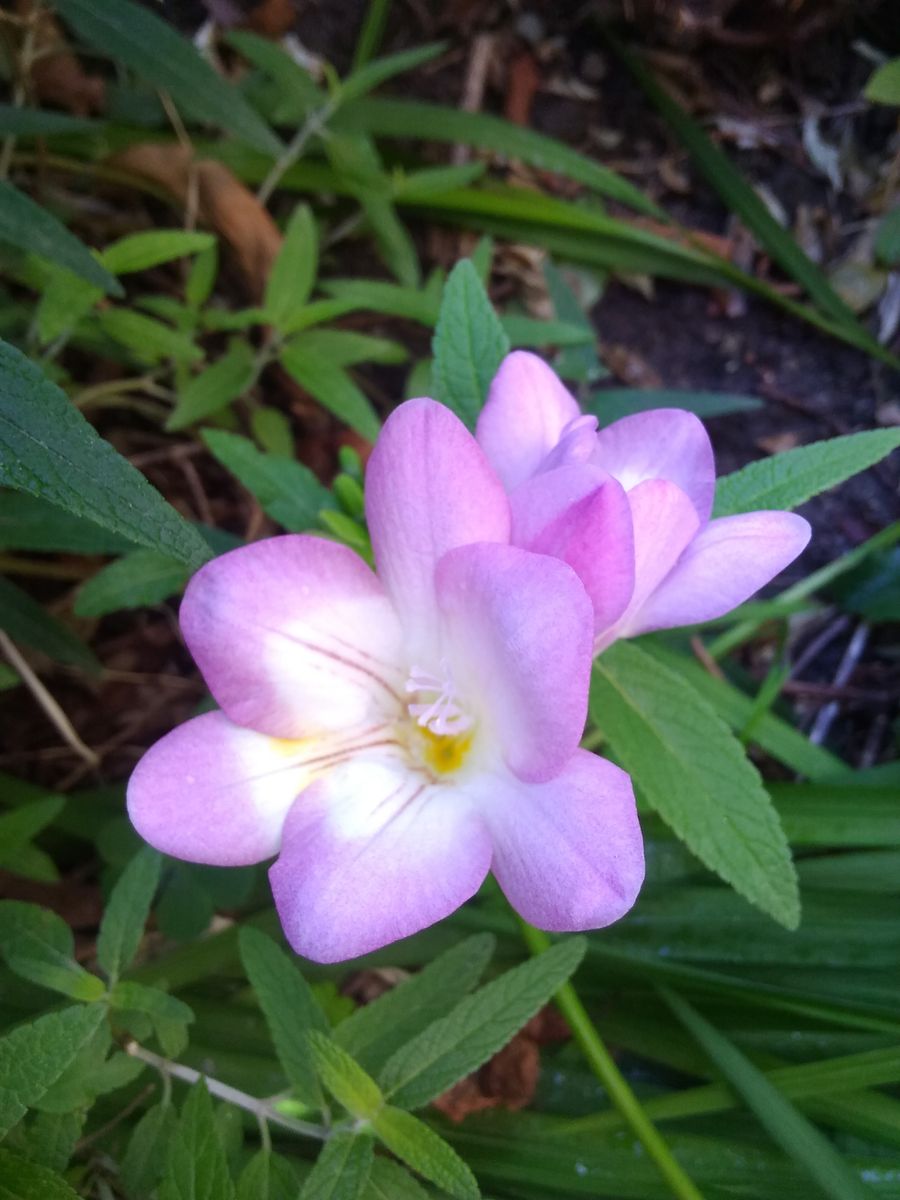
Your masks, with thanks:
M527 480L510 496L512 542L562 558L606 629L628 607L635 587L631 508L622 485L593 466L559 467Z

